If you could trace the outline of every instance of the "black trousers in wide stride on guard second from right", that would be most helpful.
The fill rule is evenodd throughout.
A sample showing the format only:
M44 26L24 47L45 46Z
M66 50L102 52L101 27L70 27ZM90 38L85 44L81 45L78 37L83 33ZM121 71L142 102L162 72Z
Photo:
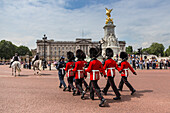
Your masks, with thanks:
M103 89L104 92L107 92L110 86L112 87L112 89L115 92L116 96L120 97L120 93L119 93L119 91L118 91L118 89L117 89L117 87L115 85L115 82L114 82L114 77L111 77L111 76L108 77L107 84L106 84L105 88Z

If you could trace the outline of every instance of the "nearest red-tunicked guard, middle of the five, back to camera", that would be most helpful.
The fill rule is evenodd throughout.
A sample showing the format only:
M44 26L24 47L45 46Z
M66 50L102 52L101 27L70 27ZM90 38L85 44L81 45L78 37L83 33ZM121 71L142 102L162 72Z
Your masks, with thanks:
M101 100L99 106L102 107L106 100L101 95L100 87L98 86L97 82L100 79L100 73L105 75L105 71L103 69L102 63L97 60L99 51L96 48L90 49L90 58L92 59L89 63L88 68L85 72L90 73L90 98L94 100L94 92L97 94L99 99Z

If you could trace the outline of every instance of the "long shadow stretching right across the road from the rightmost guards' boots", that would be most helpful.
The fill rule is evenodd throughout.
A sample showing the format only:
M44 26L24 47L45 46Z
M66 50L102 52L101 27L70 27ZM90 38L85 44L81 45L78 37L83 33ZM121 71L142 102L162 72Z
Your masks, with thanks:
M123 90L123 91L129 91L129 90ZM130 91L129 91L130 92ZM121 100L113 100L113 99L107 99L108 103L113 103L113 102L124 102L124 101L130 101L131 98L141 98L143 96L143 93L150 93L153 92L153 90L139 90L136 91L133 95L122 95ZM130 92L131 93L131 92Z

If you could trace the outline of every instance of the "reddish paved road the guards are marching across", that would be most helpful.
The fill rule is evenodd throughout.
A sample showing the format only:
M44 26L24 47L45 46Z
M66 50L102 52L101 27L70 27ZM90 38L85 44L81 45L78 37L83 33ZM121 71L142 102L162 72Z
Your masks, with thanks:
M121 101L113 100L110 89L104 96L108 107L98 107L99 100L86 100L58 88L57 71L42 71L42 76L33 75L32 70L22 69L21 76L11 76L8 66L0 66L0 113L170 113L170 70L137 70L130 75L129 82L137 92L131 96L125 86ZM116 73L116 85L120 75ZM87 78L89 82L89 78ZM99 85L104 87L101 78Z

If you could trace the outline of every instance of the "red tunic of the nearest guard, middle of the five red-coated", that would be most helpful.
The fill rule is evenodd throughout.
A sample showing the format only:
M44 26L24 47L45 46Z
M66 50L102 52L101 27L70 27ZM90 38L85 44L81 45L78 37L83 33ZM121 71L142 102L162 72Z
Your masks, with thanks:
M90 73L90 80L99 80L100 72L106 75L102 63L99 60L90 61L89 67L85 70L85 72Z

